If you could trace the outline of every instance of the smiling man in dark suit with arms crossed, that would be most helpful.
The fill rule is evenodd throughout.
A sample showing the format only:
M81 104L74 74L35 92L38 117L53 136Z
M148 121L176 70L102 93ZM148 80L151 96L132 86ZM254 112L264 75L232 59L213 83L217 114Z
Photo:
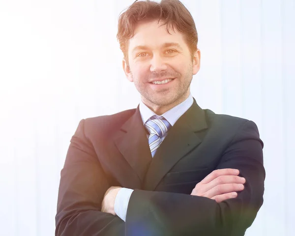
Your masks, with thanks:
M61 171L58 236L242 236L263 204L254 122L201 109L192 16L178 0L121 14L123 69L136 109L83 119Z

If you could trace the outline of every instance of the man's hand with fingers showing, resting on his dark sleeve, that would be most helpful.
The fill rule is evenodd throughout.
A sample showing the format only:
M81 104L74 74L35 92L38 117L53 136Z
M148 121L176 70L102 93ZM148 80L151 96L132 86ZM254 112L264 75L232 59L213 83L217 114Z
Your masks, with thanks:
M235 198L238 191L244 189L245 178L238 176L236 169L220 169L211 172L201 182L197 183L191 195L201 196L220 203Z

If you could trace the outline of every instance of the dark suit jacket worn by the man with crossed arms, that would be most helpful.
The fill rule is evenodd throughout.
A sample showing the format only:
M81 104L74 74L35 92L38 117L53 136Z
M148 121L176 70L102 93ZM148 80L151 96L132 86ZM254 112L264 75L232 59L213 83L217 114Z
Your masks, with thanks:
M61 171L56 235L242 236L263 204L263 142L254 122L194 101L151 158L139 108L81 120ZM191 196L216 169L246 178L235 199ZM101 212L110 186L135 189L126 222Z

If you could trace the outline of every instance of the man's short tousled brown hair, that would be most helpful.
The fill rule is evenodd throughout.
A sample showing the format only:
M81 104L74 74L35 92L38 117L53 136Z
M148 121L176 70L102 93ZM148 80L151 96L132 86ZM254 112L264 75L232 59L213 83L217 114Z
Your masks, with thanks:
M128 65L128 41L134 36L134 29L139 22L149 22L162 20L185 35L185 41L190 48L191 55L197 50L198 33L194 19L187 8L179 0L161 0L160 3L150 0L136 0L118 18L117 39L120 49Z

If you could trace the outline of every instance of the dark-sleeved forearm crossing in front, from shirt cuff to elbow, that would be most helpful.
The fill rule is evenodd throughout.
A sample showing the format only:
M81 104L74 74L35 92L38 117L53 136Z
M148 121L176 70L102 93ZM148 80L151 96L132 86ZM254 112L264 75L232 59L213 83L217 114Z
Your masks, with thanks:
M152 236L241 236L261 204L240 199L216 203L205 197L136 189L128 205L125 232L128 236L141 232Z

